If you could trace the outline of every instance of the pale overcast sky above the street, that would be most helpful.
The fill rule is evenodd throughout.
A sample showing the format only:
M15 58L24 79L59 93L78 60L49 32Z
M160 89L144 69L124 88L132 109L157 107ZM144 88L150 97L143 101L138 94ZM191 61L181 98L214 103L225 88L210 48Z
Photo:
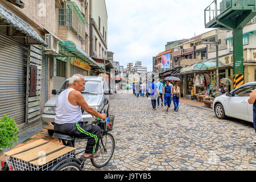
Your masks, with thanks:
M124 68L142 61L152 71L152 57L167 42L192 38L204 28L204 9L213 0L105 0L108 10L108 50Z

